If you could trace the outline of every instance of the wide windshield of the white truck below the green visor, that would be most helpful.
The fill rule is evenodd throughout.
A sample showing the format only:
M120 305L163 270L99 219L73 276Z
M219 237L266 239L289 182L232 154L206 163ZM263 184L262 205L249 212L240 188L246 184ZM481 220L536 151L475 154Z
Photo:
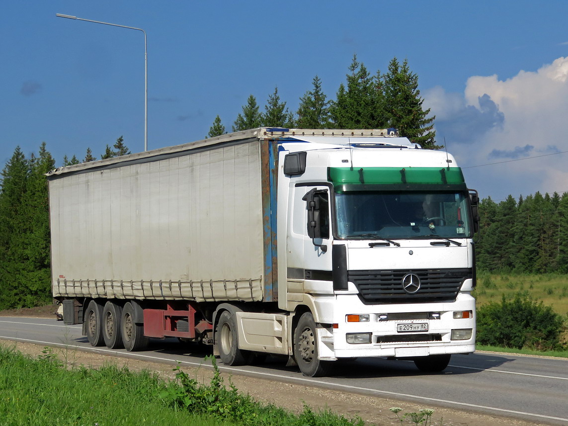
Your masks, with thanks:
M343 239L471 237L468 195L448 192L345 191L335 194Z

